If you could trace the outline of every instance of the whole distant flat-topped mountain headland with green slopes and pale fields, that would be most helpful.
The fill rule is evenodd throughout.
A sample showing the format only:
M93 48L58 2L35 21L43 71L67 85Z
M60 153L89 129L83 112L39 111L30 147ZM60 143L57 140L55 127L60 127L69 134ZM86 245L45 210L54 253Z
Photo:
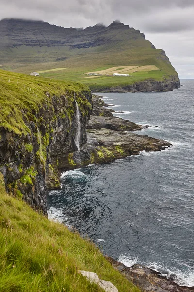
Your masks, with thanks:
M6 69L88 85L93 91L169 91L180 85L165 52L139 30L63 28L43 21L0 21L0 65ZM114 73L128 77L113 76Z

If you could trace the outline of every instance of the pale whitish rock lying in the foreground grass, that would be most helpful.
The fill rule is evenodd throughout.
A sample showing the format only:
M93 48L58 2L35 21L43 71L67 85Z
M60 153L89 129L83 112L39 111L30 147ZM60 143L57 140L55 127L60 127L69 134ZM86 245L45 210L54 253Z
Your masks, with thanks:
M106 292L118 292L118 289L113 285L113 283L100 280L98 275L94 272L89 271L78 271L78 273L82 274L90 283L95 283L99 285Z

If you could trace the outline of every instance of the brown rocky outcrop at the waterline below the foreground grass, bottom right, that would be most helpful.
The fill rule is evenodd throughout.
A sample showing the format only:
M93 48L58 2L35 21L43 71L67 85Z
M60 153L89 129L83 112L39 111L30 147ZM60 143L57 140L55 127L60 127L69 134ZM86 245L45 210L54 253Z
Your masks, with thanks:
M124 274L125 277L138 286L144 292L193 292L194 287L179 286L173 280L166 279L160 276L160 273L155 272L146 267L135 264L131 268L114 260L111 257L106 257L113 267Z

